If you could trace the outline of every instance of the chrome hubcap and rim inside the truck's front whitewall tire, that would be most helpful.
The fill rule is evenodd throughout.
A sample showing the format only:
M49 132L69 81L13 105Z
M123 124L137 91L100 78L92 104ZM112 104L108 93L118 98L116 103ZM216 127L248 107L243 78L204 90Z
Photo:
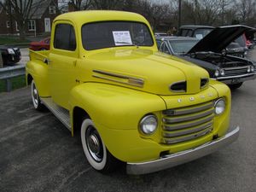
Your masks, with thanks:
M102 140L96 129L90 126L85 133L85 138L90 156L97 162L101 162L103 159Z

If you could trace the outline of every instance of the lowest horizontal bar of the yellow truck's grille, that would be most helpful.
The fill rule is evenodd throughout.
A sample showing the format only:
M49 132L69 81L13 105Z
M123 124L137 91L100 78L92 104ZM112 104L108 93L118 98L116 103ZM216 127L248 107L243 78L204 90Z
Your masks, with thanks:
M189 136L185 136L185 137L162 138L162 143L173 144L173 143L185 142L185 141L188 141L188 140L195 139L197 137L204 136L210 131L212 131L212 125L208 126L203 131L194 133L193 135L189 135Z

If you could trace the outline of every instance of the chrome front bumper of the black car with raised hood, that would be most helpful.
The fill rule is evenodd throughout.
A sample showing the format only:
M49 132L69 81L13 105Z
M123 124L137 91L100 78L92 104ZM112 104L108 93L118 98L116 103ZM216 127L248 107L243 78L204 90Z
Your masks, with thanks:
M243 75L236 75L230 77L219 77L215 80L218 80L224 84L238 84L247 80L256 79L256 73L252 74L243 74Z

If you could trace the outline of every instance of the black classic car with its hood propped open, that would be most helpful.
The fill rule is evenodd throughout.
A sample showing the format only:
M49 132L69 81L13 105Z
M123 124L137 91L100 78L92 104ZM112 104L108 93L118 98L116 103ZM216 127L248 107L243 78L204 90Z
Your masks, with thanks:
M201 40L171 36L156 38L156 42L160 51L193 62L205 68L212 79L217 79L228 84L231 89L236 89L244 81L255 79L256 67L252 61L227 55L225 48L248 29L251 27L220 26Z

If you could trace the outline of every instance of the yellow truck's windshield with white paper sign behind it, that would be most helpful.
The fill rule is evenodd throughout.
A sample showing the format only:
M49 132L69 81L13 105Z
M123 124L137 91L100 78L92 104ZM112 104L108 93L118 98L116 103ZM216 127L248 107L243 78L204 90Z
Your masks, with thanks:
M152 46L148 26L139 22L105 21L82 27L84 49L102 49L118 46Z

